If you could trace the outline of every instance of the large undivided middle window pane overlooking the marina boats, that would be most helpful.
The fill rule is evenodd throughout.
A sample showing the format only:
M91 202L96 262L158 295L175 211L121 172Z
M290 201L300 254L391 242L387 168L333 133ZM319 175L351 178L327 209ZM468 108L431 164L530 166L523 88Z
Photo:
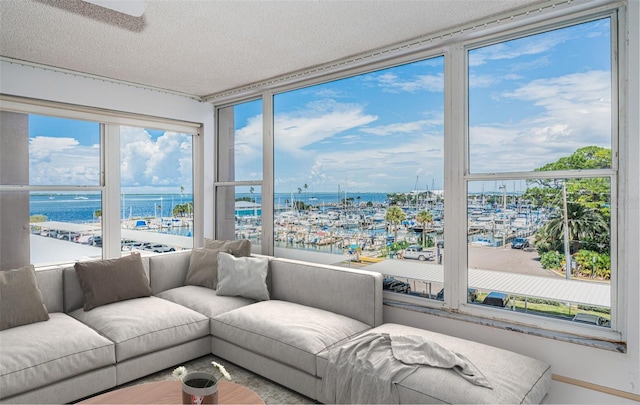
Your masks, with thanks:
M370 266L391 291L435 297L443 64L437 57L274 96L278 254Z

